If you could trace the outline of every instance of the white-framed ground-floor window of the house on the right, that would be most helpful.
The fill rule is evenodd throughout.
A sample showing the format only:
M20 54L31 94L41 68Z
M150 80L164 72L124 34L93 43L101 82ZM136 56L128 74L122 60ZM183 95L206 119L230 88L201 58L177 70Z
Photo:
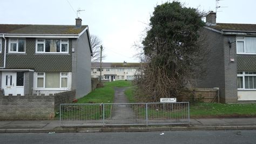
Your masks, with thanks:
M237 73L238 90L256 90L256 72Z

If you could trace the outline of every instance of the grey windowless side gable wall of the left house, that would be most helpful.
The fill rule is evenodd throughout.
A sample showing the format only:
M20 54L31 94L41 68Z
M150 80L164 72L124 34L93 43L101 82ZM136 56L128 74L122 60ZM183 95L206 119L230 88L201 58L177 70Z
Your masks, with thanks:
M73 40L75 52L72 53L72 89L81 98L91 91L91 51L89 33L86 30L78 39Z

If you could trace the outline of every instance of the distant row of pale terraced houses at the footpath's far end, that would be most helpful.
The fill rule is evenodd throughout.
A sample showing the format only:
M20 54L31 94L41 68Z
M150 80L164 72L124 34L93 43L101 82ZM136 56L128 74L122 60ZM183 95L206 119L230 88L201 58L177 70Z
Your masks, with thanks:
M102 63L102 80L133 80L140 63ZM100 63L91 63L91 77L100 78Z

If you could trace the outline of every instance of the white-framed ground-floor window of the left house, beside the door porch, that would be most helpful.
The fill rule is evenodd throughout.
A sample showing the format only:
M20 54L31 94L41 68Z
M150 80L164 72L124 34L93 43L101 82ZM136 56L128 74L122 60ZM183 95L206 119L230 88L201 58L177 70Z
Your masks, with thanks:
M49 90L68 89L68 72L37 72L36 88Z

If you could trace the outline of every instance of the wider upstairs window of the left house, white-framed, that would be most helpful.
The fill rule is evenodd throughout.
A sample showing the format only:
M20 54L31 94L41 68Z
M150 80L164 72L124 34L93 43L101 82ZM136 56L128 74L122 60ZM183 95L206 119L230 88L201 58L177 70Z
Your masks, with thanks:
M69 53L69 40L37 39L36 53Z

